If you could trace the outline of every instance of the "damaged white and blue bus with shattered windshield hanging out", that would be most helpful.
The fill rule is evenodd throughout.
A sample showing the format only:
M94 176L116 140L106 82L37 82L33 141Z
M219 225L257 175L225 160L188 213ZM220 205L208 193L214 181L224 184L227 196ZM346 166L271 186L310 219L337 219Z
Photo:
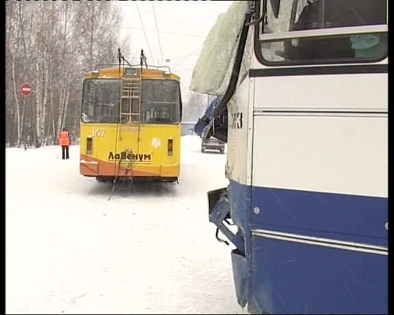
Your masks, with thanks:
M387 2L234 1L204 44L209 220L251 314L388 313Z

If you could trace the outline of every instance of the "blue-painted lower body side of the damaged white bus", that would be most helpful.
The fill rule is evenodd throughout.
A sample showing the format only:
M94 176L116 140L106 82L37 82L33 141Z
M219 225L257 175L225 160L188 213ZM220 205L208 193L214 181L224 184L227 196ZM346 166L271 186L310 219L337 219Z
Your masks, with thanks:
M241 294L238 301L247 299L249 312L388 312L387 255L251 236L251 230L262 229L387 246L386 198L251 187L235 181L228 191L232 219L245 236L246 259L236 259L233 253L234 279L240 286L236 292ZM254 207L260 208L259 214ZM242 275L247 278L239 279Z

